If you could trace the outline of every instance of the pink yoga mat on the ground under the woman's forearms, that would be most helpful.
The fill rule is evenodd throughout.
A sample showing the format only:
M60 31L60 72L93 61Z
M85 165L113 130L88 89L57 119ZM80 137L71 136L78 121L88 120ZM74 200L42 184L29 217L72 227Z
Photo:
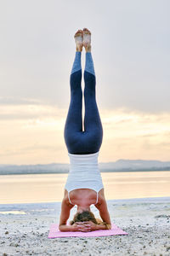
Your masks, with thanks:
M49 229L48 238L57 238L57 237L71 237L71 236L80 236L80 237L92 237L92 236L115 236L115 235L128 235L127 232L121 230L116 224L111 224L111 230L95 230L91 232L61 232L59 231L58 224L51 224Z

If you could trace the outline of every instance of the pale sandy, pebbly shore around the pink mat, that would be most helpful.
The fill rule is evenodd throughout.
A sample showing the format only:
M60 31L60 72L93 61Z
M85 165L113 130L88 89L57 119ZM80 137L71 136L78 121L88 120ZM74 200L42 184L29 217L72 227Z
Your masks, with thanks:
M170 255L170 198L108 201L108 207L128 236L48 239L60 203L0 205L0 255Z

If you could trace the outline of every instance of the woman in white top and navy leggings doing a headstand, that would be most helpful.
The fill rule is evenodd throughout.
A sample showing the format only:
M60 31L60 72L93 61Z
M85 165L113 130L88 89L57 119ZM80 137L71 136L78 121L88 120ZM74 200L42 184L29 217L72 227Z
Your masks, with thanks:
M95 100L95 73L91 55L91 32L87 28L75 34L77 52L71 70L71 103L65 122L65 144L71 167L65 184L65 195L61 204L60 231L92 231L111 229L111 219L107 210L104 187L98 168L99 148L103 129ZM82 131L82 47L86 50L84 71L85 117ZM97 220L90 211L90 205L99 210L102 218ZM66 222L71 208L77 205L70 225Z

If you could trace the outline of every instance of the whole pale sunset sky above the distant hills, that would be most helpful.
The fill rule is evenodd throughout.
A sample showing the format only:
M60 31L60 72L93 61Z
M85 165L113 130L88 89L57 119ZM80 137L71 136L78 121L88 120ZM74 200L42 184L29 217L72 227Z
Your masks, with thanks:
M170 160L169 9L168 0L2 0L0 164L68 162L63 130L83 27L104 127L99 161Z

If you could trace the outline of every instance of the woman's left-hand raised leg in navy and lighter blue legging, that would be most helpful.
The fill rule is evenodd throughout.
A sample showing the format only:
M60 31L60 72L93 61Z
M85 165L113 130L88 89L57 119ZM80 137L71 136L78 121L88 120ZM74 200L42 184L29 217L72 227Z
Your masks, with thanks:
M75 154L75 152L77 151L77 138L80 136L80 134L82 134L81 54L81 51L78 51L77 49L70 78L71 103L65 121L65 144L69 153L71 154Z

